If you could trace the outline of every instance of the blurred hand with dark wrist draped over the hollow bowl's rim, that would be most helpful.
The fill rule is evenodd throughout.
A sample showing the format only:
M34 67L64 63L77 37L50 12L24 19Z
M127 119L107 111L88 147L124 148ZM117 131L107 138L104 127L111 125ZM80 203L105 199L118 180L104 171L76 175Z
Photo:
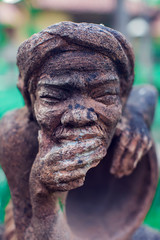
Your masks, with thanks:
M152 139L142 115L126 111L115 132L115 153L110 172L117 177L129 175L151 148Z

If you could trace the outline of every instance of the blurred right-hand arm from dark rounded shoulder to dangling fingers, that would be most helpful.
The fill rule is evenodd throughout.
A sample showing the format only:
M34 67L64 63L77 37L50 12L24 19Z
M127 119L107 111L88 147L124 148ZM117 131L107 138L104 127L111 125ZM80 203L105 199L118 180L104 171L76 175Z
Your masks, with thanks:
M114 136L116 151L110 171L115 176L131 174L151 148L149 129L156 99L157 91L151 85L137 86L131 91Z

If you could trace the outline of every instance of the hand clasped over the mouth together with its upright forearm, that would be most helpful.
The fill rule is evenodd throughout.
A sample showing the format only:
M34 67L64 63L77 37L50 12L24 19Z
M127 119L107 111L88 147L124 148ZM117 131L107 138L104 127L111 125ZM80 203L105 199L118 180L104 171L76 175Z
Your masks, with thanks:
M30 174L33 220L26 240L31 237L43 240L46 232L50 233L49 240L77 239L68 229L62 210L67 195L65 191L81 186L88 169L96 166L105 155L106 147L98 138L65 140L48 149L40 147Z

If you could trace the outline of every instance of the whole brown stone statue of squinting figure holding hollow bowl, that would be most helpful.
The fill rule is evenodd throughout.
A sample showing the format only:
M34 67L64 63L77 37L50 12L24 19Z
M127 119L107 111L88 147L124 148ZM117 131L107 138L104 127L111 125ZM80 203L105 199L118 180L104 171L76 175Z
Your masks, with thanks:
M0 122L15 239L160 239L143 227L134 234L157 185L149 133L157 93L132 89L125 37L58 23L22 43L17 65L26 106ZM3 238L11 240L8 224Z

